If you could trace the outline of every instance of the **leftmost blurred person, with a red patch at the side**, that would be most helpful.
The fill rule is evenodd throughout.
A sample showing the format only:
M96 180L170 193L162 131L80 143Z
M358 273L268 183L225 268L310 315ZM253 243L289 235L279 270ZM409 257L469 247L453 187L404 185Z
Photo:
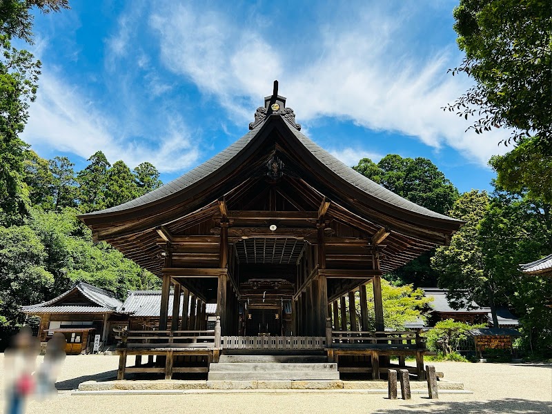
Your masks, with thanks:
M37 364L40 343L32 336L30 326L23 326L14 335L10 348L4 353L6 378L6 414L21 414L25 411L28 397L34 391L32 372Z

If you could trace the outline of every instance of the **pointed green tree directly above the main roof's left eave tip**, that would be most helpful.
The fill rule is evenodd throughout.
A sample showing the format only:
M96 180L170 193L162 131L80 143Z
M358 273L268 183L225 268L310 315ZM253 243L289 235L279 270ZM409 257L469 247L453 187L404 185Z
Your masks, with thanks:
M106 186L111 166L101 151L95 152L87 161L90 164L77 173L79 207L83 213L106 208Z

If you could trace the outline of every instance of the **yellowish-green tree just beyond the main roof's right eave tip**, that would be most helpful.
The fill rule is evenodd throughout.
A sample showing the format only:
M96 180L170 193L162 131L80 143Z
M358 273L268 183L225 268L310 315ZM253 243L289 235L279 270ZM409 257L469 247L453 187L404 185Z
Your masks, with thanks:
M452 306L469 306L472 301L488 304L493 315L493 325L498 326L495 302L506 302L509 283L497 279L485 263L480 244L480 224L490 204L489 195L471 190L454 204L451 217L466 224L451 238L449 246L435 250L431 265L439 272L439 286L449 289Z

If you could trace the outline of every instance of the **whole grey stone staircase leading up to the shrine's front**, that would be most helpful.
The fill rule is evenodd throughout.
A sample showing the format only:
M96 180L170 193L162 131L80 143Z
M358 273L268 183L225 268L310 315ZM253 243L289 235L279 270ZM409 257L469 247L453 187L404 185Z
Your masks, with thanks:
M339 380L337 364L322 355L221 355L210 364L210 381Z

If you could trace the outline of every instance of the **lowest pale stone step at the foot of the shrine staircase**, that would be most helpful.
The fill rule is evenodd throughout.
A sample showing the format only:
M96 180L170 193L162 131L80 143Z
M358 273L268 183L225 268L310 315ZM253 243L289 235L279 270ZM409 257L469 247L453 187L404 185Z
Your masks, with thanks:
M339 380L336 371L226 371L209 372L208 381Z

